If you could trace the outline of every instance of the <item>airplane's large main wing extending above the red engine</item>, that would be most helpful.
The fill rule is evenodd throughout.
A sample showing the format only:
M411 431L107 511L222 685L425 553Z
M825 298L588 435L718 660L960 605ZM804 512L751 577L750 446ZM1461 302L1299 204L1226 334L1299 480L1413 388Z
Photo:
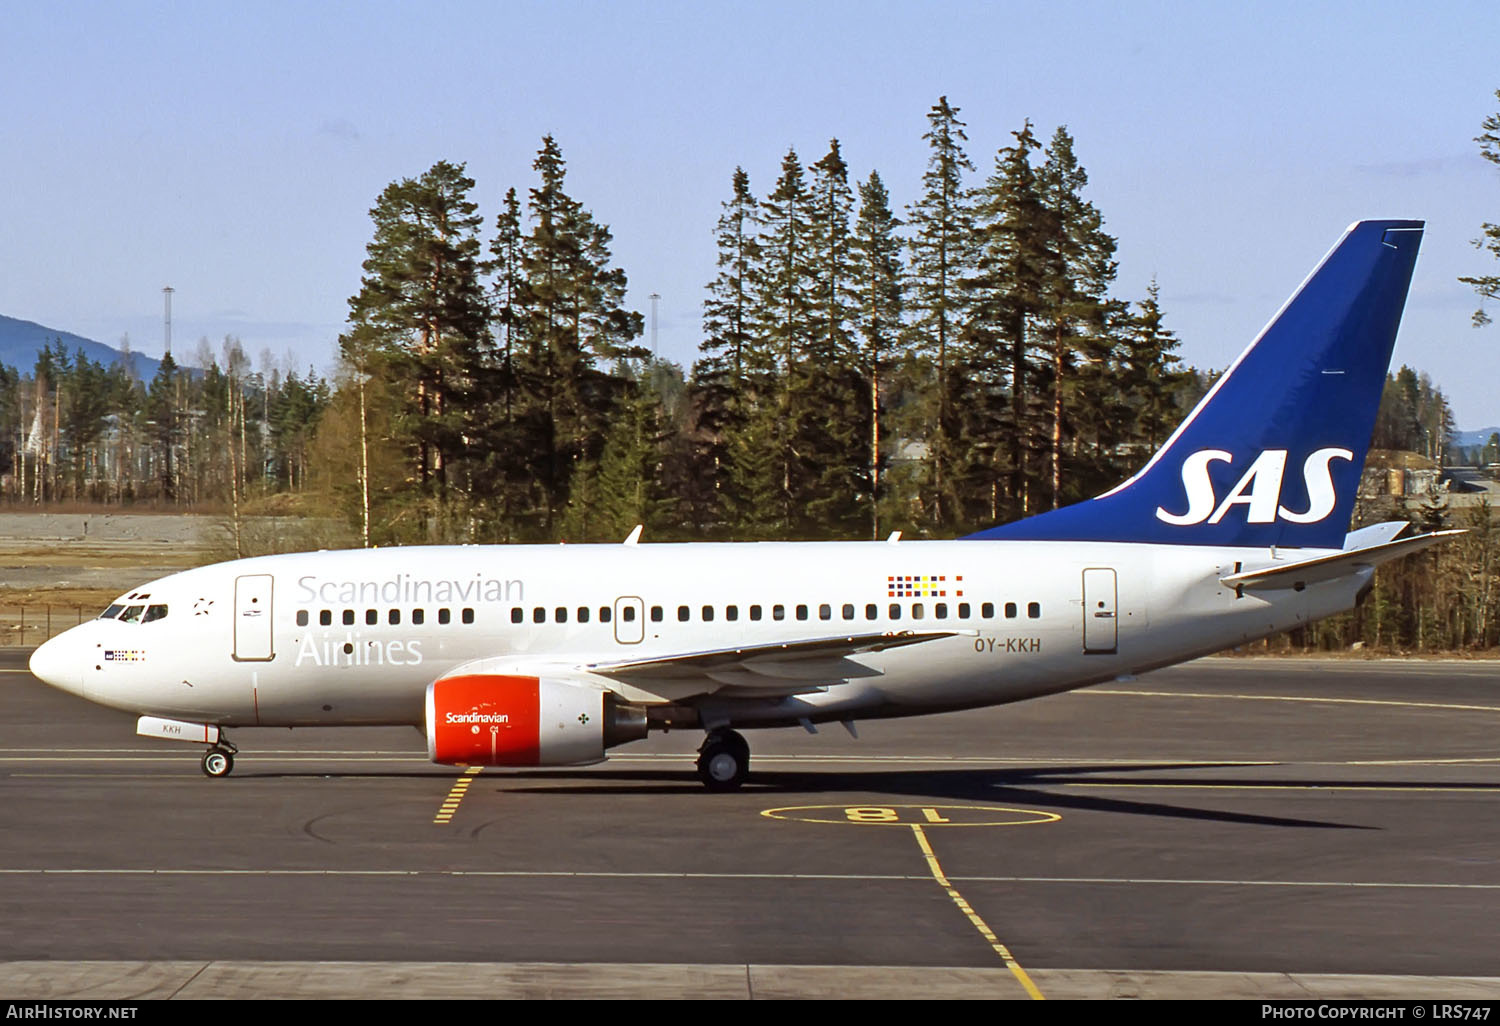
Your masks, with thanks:
M590 663L584 669L638 687L670 690L678 694L682 693L682 686L694 687L696 693L712 692L735 698L802 694L820 692L828 684L849 678L880 675L880 670L858 663L850 656L920 645L962 633L972 632L904 630L879 634L844 634L717 648L656 658L600 662Z

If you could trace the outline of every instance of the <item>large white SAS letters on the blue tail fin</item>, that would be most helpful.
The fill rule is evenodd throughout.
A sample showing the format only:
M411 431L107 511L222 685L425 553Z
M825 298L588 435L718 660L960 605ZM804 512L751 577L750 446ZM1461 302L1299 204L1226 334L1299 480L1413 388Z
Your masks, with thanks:
M1232 464L1234 458L1222 448L1198 450L1182 460L1182 488L1188 495L1186 512L1170 513L1158 506L1156 519L1176 526L1218 524L1230 507L1246 506L1248 524L1270 524L1276 519L1290 524L1317 524L1334 512L1338 501L1334 494L1334 474L1329 471L1329 464L1335 459L1353 460L1354 453L1347 448L1318 448L1304 460L1302 480L1306 483L1308 508L1299 512L1281 506L1281 477L1287 470L1286 448L1264 450L1222 501L1214 495L1209 465Z

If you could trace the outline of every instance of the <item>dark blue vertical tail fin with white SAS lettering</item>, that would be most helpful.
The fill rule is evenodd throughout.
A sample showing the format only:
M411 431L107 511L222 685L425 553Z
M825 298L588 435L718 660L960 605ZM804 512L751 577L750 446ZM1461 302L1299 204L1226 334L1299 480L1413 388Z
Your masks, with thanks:
M972 538L1344 542L1420 220L1360 220L1134 477Z

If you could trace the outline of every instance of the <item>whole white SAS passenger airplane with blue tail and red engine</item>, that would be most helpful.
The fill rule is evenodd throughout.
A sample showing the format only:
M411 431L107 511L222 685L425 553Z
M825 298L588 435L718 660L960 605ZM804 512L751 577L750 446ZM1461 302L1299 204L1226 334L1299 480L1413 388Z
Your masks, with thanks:
M141 585L34 651L46 684L208 746L226 729L411 724L436 764L600 762L704 730L1017 702L1353 608L1458 531L1348 531L1424 222L1352 225L1150 460L1078 504L956 540L303 552ZM855 736L858 736L855 734Z

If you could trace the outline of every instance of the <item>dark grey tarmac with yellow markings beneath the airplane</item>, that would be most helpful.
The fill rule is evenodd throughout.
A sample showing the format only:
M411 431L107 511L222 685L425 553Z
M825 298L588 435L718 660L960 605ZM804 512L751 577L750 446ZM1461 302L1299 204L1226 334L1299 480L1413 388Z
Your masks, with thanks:
M993 710L232 777L0 651L0 998L1500 998L1500 664L1210 658ZM466 782L466 783L460 783Z

